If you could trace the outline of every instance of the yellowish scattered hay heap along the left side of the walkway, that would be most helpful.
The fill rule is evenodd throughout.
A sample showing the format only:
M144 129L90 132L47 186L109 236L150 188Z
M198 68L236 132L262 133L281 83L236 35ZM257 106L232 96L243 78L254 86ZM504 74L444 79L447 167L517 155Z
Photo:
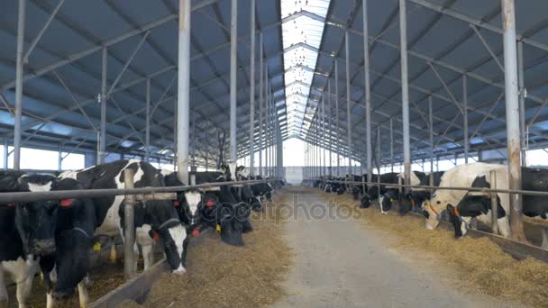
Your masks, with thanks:
M275 196L283 202L284 196ZM221 242L215 231L188 245L187 274L162 274L145 307L258 307L285 296L281 282L289 271L291 250L281 239L276 206L269 217L253 216L254 231L243 235L245 247ZM283 222L282 222L283 223ZM123 303L123 307L139 306Z

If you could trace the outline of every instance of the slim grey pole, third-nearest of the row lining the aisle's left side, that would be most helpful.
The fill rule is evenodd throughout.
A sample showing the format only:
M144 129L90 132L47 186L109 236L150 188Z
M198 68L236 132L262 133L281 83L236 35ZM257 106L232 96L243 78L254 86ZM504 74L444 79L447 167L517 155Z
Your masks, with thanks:
M255 166L255 0L251 0L251 55L250 55L250 175ZM261 55L262 57L262 55Z

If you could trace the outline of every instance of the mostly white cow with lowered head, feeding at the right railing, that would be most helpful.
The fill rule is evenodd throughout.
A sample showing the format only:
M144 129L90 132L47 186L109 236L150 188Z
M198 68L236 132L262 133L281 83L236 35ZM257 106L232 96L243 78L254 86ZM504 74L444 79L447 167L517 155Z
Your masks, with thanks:
M481 182L489 183L489 172L500 168L507 168L504 165L473 163L457 166L446 171L440 181L440 187L471 187L481 186ZM434 230L439 224L443 212L447 205L457 206L465 196L470 195L464 190L436 189L431 200L425 200L421 205L426 218L425 227L427 230ZM471 194L474 195L474 194ZM503 203L505 205L507 203ZM506 205L505 205L506 206ZM485 216L485 217L484 217ZM487 217L489 216L489 217ZM490 221L490 215L479 217L479 221ZM509 234L509 224L507 216L498 220L501 226L500 231L503 236Z

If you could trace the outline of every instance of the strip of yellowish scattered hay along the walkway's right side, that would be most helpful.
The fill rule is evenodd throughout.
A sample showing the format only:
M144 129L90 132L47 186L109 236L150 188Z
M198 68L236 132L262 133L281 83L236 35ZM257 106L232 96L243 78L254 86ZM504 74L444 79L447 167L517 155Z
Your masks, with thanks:
M518 261L488 238L453 238L452 231L425 230L423 219L400 217L394 211L383 215L377 207L360 209L348 195L322 194L335 204L353 204L360 211L362 226L386 235L390 246L407 256L433 262L434 267L449 268L458 277L452 285L464 292L487 294L534 306L548 306L548 264L534 258ZM453 283L453 282L452 282Z

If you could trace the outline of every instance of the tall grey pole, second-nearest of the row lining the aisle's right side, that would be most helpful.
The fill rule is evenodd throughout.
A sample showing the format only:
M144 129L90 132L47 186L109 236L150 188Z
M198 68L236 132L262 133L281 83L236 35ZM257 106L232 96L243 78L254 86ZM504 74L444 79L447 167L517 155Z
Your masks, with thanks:
M409 140L409 80L407 72L407 18L406 0L399 0L399 39L401 50L401 97L404 140L404 184L410 184L411 178L411 144ZM407 191L407 189L406 189Z

